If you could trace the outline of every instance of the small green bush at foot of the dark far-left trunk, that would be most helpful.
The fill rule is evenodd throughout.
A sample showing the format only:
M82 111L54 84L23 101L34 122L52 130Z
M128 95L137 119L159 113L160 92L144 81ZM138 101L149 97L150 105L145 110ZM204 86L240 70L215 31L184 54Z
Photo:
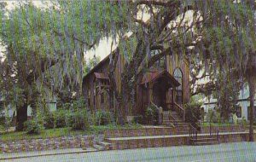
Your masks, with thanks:
M24 123L27 134L40 134L44 130L44 122L40 119L31 119Z

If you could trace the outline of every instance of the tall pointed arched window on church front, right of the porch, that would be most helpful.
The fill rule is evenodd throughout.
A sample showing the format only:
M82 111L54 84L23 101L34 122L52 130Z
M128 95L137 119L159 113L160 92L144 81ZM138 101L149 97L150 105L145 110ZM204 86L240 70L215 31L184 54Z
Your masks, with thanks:
M183 104L183 72L180 70L180 68L176 68L173 72L173 75L174 75L174 78L180 84L176 88L175 101L177 102L177 104Z

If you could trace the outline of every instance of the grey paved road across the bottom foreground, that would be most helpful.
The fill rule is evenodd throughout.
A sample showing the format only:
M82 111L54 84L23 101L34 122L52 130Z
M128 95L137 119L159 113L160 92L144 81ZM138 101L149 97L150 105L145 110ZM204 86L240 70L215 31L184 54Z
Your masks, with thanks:
M7 161L168 161L168 162L256 162L256 142L239 142L212 146L143 148L95 153L51 155Z

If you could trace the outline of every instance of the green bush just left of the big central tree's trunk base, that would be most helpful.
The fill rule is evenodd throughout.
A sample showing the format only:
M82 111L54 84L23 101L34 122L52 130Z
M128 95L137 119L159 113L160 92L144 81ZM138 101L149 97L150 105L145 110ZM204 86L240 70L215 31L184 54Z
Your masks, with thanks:
M96 125L106 125L113 122L113 114L104 110L96 111L94 118Z

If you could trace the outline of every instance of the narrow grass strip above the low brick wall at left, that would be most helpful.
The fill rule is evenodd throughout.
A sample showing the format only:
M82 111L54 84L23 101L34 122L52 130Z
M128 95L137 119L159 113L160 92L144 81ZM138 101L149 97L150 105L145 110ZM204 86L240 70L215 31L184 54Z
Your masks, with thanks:
M6 132L0 134L0 141L2 142L9 142L9 141L18 141L18 140L29 140L29 139L38 139L38 138L52 138L52 137L59 137L59 136L78 136L78 135L97 135L102 133L103 130L113 130L113 129L139 129L142 126L139 124L126 124L124 126L120 125L100 125L100 126L90 126L88 130L72 130L71 128L56 128L56 129L49 129L43 130L39 135L28 135L26 131L19 131L19 132Z

